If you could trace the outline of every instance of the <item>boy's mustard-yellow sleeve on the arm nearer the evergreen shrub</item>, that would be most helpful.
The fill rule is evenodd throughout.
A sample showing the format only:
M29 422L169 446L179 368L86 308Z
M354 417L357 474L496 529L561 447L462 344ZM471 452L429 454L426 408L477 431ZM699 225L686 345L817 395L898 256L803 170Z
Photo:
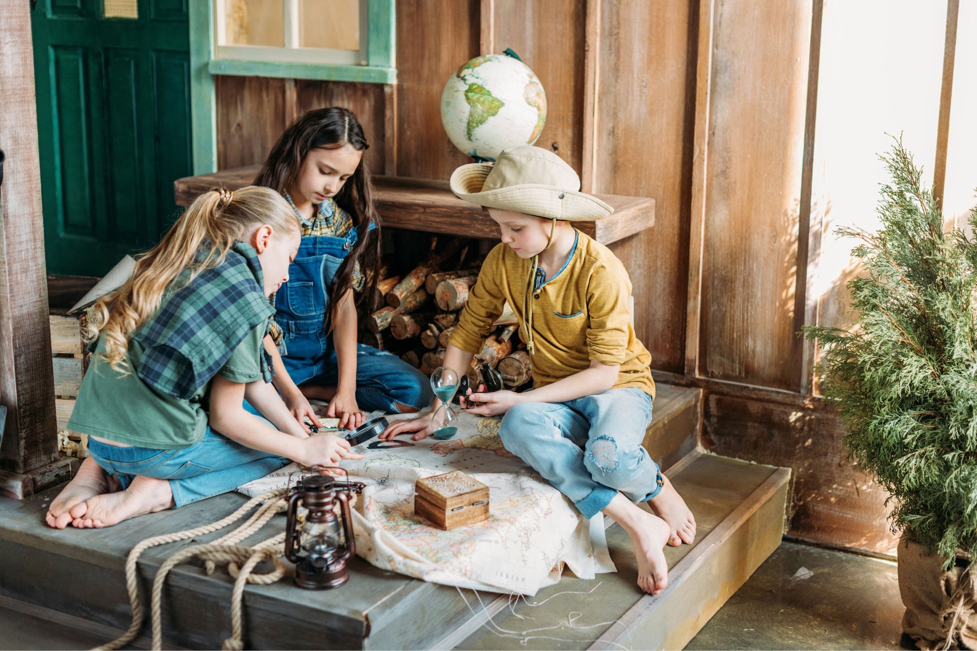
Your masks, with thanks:
M621 364L630 338L631 281L619 262L599 264L587 285L587 353L591 361Z

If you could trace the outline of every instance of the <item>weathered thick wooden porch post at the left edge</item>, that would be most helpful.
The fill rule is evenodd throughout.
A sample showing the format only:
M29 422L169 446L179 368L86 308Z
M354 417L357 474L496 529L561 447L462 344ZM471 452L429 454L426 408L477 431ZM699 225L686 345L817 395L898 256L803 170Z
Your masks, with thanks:
M29 5L0 11L0 405L7 408L0 468L27 472L58 447L51 326L44 274L44 232Z

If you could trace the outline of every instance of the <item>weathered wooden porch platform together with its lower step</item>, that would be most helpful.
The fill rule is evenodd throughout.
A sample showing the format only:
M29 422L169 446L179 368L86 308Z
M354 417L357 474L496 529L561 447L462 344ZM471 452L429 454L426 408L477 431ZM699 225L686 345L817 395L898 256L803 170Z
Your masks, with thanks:
M593 639L574 639L572 647L577 643L586 647L598 639L616 640L632 648L681 646L777 547L783 529L787 471L702 454L695 447L700 404L698 389L659 386L655 423L649 428L650 452L663 465L670 465L668 475L697 514L697 545L667 549L671 586L658 597L643 597L634 583L636 570L629 541L619 527L612 526L608 542L618 572L600 575L594 581L581 581L568 573L560 584L541 591L531 602L561 591L594 591L556 596L543 606L528 609L531 612L527 615L535 617L535 622L548 621L563 608L586 612L587 624L624 617L630 622L632 641L621 642L614 637L623 635L616 625L609 627L610 631L587 631L595 633ZM683 435L682 424L690 422L693 427ZM679 459L690 445L693 453L678 464L667 461ZM116 630L129 625L124 579L129 549L150 536L212 521L243 502L239 495L222 495L102 530L58 531L43 520L49 500L56 494L57 489L22 503L0 499L0 549L4 549L0 554L0 595ZM277 521L283 526L281 516ZM151 578L170 554L214 538L212 534L150 549L139 565L143 594L149 593ZM424 583L379 570L359 558L352 563L351 575L350 583L339 590L300 590L290 581L248 586L244 599L248 648L516 646L511 638L495 637L480 629L485 618L476 604L480 596L491 603L495 594ZM164 590L165 641L188 648L219 647L230 635L232 587L232 580L224 573L207 576L195 564L178 566ZM672 624L680 623L680 627L666 629L660 624L660 603L673 604L664 610L672 613ZM501 611L504 606L502 600L490 607ZM547 608L555 609L550 612ZM495 613L495 621L501 623L503 615ZM561 618L565 620L566 615ZM506 622L502 628L531 628L518 626ZM649 632L635 637L635 631ZM555 636L566 637L563 632ZM149 635L149 622L142 634ZM636 643L639 639L643 641ZM676 640L682 640L681 644ZM547 640L529 640L528 644L537 642L542 647L556 644Z

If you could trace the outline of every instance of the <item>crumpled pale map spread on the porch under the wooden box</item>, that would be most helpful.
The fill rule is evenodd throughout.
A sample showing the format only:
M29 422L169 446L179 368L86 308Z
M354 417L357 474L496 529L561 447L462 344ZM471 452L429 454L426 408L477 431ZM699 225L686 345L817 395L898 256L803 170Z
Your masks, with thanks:
M497 418L462 413L457 424L457 434L445 441L374 438L354 448L363 459L343 462L350 480L366 484L353 510L357 553L364 560L433 583L522 594L559 582L565 564L582 579L616 571L603 515L584 519L506 450ZM450 470L488 485L488 520L442 531L414 514L414 482ZM237 490L254 497L308 473L290 464Z

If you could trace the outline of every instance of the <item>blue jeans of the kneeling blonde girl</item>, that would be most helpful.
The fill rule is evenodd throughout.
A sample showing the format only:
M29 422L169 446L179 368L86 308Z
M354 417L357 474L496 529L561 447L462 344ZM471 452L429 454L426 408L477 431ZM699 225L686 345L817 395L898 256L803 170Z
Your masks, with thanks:
M88 452L106 472L118 475L122 488L137 475L168 479L174 509L233 491L289 463L235 443L210 427L199 441L178 450L120 448L89 438Z

